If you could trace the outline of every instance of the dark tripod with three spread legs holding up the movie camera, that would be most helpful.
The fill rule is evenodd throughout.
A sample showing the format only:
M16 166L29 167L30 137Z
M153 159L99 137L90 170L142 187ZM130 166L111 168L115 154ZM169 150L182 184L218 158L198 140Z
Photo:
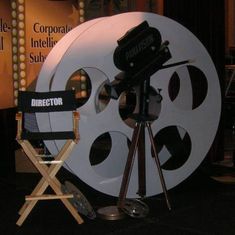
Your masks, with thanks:
M135 153L138 149L138 183L139 189L137 194L140 197L144 197L146 195L146 169L145 169L145 128L147 127L151 147L153 150L152 157L157 165L158 174L161 181L161 186L165 195L167 207L171 210L170 201L168 198L168 193L166 189L165 180L163 177L160 161L158 158L156 146L154 143L153 132L151 129L151 122L156 119L156 116L149 115L149 91L150 91L150 79L144 80L140 86L140 96L139 96L139 113L133 114L131 118L133 118L135 123L135 128L132 135L131 145L127 157L127 162L122 178L122 184L119 192L118 198L118 208L123 209L125 206L125 199L128 190L128 185L131 177L131 171L134 164ZM160 94L158 94L160 96ZM160 100L161 101L161 96Z

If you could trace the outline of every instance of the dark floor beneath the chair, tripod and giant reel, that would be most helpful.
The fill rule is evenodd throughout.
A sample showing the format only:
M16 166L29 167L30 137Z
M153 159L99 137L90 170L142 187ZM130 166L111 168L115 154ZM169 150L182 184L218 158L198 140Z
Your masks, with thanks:
M234 168L230 168L234 171ZM212 179L221 169L199 168L186 181L169 190L172 210L163 195L144 200L150 212L145 218L126 216L122 220L88 219L78 225L60 201L40 201L21 227L15 225L17 211L40 175L17 173L15 179L1 179L0 231L3 235L233 235L235 234L235 184ZM62 170L58 177L75 184L95 210L116 204L116 198L91 189Z

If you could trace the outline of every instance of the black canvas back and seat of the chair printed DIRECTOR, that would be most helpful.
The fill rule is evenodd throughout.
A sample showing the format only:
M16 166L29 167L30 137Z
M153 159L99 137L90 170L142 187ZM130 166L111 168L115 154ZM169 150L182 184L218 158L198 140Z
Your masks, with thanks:
M38 128L36 128L37 123L35 117L35 114L38 112L50 113L74 110L76 110L76 99L75 91L73 90L52 92L19 91L18 111L24 114L21 139L74 139L75 135L73 131L39 132ZM28 126L34 126L35 128L27 128L27 123Z

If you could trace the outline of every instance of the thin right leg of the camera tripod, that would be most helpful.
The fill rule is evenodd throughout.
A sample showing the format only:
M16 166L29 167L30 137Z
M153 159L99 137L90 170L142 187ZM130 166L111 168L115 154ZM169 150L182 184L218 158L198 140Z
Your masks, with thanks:
M154 153L153 158L154 158L154 160L156 162L156 165L157 165L157 168L158 168L158 174L159 174L162 189L163 189L163 192L164 192L164 195L165 195L165 198L166 198L166 204L167 204L168 209L171 210L171 205L170 205L170 201L169 201L169 198L168 198L166 184L165 184L165 180L164 180L164 177L163 177L163 174L162 174L162 169L161 169L160 161L159 161L159 158L158 158L156 146L155 146L155 143L154 143L153 132L152 132L150 123L147 122L146 126L148 128L149 138L150 138L151 145L152 145L152 148L153 148L153 153Z

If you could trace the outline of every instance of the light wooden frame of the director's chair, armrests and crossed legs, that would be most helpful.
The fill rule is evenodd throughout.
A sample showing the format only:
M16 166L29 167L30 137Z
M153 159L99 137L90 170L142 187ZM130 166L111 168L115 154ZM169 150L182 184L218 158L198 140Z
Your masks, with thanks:
M73 111L73 131L75 134L75 139L67 139L65 144L59 151L59 153L56 156L54 156L54 160L50 162L43 160L45 155L39 154L29 140L21 138L22 123L23 123L22 119L23 119L22 112L18 112L16 114L16 120L17 120L16 140L21 145L22 149L24 150L29 160L41 173L42 178L35 187L35 189L32 191L31 195L25 196L25 203L18 212L20 217L17 220L16 224L18 226L21 226L23 224L23 222L25 221L25 219L30 214L30 212L32 211L32 209L39 200L54 200L54 199L60 199L62 203L65 205L65 207L72 214L74 219L79 224L82 224L84 222L83 219L68 200L69 198L73 198L73 194L64 194L61 191L61 183L56 178L57 172L60 170L64 161L69 157L74 146L79 141L79 134L78 134L79 113L77 111ZM48 186L52 188L55 194L44 194Z

